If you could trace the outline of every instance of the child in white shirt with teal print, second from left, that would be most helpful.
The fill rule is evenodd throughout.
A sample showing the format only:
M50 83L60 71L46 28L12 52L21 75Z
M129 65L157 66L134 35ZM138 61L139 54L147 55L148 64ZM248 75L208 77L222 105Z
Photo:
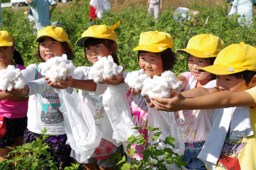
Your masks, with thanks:
M74 58L73 48L68 43L68 35L60 27L48 26L41 29L36 41L38 42L38 56L42 62L64 53L67 54L68 60ZM29 82L22 91L23 95L29 96L28 128L23 143L31 143L36 138L42 139L41 131L46 128L46 134L49 134L50 137L45 142L50 144L54 162L57 162L57 166L62 162L62 168L68 166L71 162L69 157L71 148L66 145L67 135L64 129L63 115L59 109L61 107L59 95L53 89L46 91L49 89L47 83L41 86L42 84L33 81L40 79L43 84L45 82L44 79L41 79L43 75L37 64L30 64L22 73Z

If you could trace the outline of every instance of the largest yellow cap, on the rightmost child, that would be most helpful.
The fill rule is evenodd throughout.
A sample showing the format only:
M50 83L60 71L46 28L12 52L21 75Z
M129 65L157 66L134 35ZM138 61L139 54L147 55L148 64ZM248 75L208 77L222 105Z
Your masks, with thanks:
M218 54L213 65L202 67L198 71L228 75L245 70L256 71L256 48L242 42L227 46Z

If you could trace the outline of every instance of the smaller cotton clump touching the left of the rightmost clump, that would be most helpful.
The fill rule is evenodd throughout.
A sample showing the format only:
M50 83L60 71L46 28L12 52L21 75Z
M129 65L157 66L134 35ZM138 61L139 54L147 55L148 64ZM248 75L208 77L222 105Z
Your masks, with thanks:
M143 69L140 69L127 74L124 82L134 90L139 91L143 87L143 81L146 78L149 78L149 75L145 74Z

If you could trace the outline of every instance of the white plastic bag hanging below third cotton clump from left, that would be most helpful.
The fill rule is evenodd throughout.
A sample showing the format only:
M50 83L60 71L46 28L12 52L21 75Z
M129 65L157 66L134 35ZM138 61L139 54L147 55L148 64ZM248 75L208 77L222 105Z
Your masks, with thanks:
M113 139L117 142L126 142L132 134L136 137L139 131L132 122L131 109L126 97L129 86L125 83L109 86L102 96L103 107L113 128Z

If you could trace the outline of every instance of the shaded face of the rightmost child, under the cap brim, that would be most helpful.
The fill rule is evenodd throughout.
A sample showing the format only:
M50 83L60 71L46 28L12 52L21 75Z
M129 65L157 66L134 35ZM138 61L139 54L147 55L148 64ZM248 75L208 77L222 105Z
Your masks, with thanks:
M216 75L216 80L220 91L238 92L250 89L244 79L238 79L235 75Z

